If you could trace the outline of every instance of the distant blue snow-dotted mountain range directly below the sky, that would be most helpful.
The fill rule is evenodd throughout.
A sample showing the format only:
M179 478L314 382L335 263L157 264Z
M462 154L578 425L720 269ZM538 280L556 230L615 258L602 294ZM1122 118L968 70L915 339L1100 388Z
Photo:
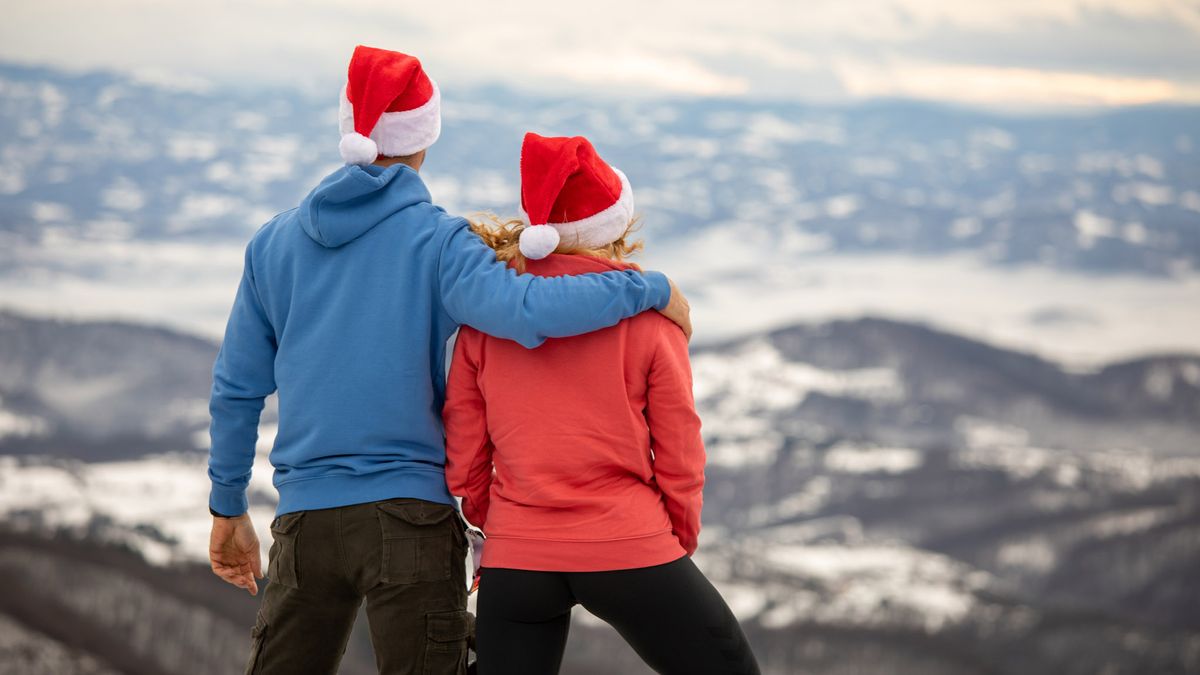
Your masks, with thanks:
M0 64L0 94L10 274L61 238L240 244L338 163L336 91L179 90ZM455 210L515 213L521 136L536 130L590 137L637 186L658 241L746 227L798 252L970 251L1145 275L1200 267L1193 108L1002 118L907 102L604 102L500 89L448 91L444 107L426 173Z

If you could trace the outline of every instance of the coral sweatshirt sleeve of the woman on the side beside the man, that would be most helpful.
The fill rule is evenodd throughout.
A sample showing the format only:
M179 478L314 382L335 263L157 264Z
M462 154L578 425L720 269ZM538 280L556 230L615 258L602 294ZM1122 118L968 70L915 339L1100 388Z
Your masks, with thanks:
M494 446L487 434L487 410L476 380L478 356L472 353L479 336L469 328L458 333L442 419L446 430L446 486L451 495L462 497L467 520L482 528L491 503Z

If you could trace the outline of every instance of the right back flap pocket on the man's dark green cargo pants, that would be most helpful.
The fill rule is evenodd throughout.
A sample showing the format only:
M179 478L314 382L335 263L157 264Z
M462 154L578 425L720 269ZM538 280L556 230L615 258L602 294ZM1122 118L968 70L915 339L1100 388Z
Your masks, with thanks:
M383 530L379 581L416 584L450 579L458 526L454 507L427 502L378 504Z

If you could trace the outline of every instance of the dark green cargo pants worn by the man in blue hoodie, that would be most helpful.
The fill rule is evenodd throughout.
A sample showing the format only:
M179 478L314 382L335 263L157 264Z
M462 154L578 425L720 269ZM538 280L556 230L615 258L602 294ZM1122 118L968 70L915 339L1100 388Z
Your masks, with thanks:
M415 498L276 518L247 675L336 674L364 598L380 674L466 673L463 528Z

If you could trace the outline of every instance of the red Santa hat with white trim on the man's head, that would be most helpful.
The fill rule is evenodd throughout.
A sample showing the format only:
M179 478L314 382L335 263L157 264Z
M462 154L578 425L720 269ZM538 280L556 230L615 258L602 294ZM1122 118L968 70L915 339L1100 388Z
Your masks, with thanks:
M342 88L338 127L348 165L413 155L442 133L442 95L415 56L359 44Z

